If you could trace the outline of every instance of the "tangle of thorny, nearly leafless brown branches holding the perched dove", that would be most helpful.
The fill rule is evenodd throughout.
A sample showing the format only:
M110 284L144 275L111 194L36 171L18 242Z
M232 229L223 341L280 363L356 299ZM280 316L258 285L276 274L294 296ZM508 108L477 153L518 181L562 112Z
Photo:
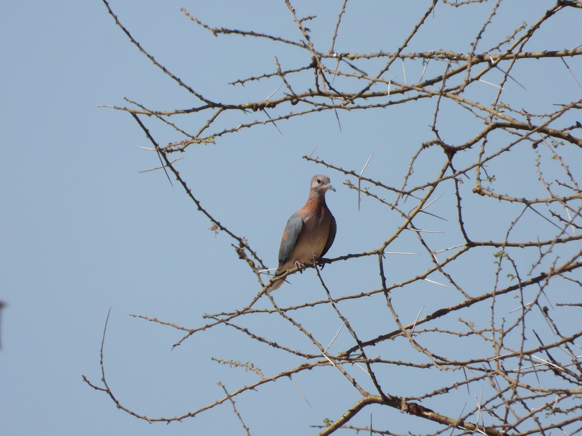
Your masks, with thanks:
M338 410L325 426L313 425L320 427L321 435L335 433L339 428L356 433L363 429L371 432L372 424L368 426L360 417L360 412L371 405L404 412L410 428L416 418L431 421L434 423L428 427L431 430L424 431L431 435L448 434L452 429L457 429L456 434L488 435L544 434L553 429L574 434L581 430L582 330L579 322L571 321L580 320L582 310L579 302L582 287L582 234L579 234L582 228L582 190L577 181L580 177L582 124L576 115L582 109L582 99L578 97L576 73L579 72L570 69L565 58L579 58L582 48L540 47L539 40L536 44L531 42L540 28L556 23L559 26L565 14L579 13L582 9L579 1L548 3L545 12L533 24L523 23L509 30L508 35L499 34L490 47L484 47L484 35L491 31L497 16L505 13L506 1L496 0L484 15L480 28L475 29L473 40L467 41L471 47L467 53L446 49L407 52L406 49L427 26L427 20L442 13L443 8L466 9L471 13L474 3L482 6L487 3L485 0L431 1L418 12L413 20L416 24L398 48L367 53L336 51L341 46L340 38L349 32L346 20L350 10L361 7L347 0L336 3L337 18L331 40L329 35L322 40L319 34L307 27L315 17L302 17L290 0L285 1L285 6L289 20L296 27L297 39L255 30L213 27L184 8L183 14L194 25L216 37L259 38L279 48L304 51L310 59L303 65L282 69L279 63L282 55L279 53L275 56L274 70L246 78L233 77L230 83L233 86L273 81L277 86L281 85L282 91L267 100L258 98L230 103L217 102L203 91L194 90L159 63L113 13L107 0L102 1L132 44L197 102L189 108L154 110L127 99L130 107L110 107L132 115L158 153L168 176L173 174L173 178L178 180L198 210L211 221L212 230L228 234L235 240L233 246L239 259L247 263L259 284L257 294L246 306L208 314L200 326L185 327L156 317L133 316L174 328L182 334L185 332L175 346L198 332L222 326L246 340L274 349L282 359L288 357L289 362L301 359L301 363L289 363L287 369L269 375L258 370L253 363L216 358L215 362L228 364L233 370L251 371L258 380L232 392L226 391L221 384L226 395L209 399L201 408L178 416L152 418L122 405L113 394L105 377L104 330L102 386L83 376L87 384L106 392L119 409L148 422L183 420L230 402L243 430L251 434L252 425L247 426L249 417L243 420L235 400L244 401L244 395L276 380L291 379L297 374L308 378L314 373L313 369L329 369L353 389L355 401L348 409ZM312 26L313 23L309 24ZM573 43L572 47L575 45ZM331 48L324 52L320 49L324 46ZM527 49L530 46L534 48L531 51ZM573 76L572 85L576 90L571 93L574 96L572 101L544 101L546 113L513 107L506 87L515 83L523 88L518 81L523 80L518 68L531 59L536 59L537 65L543 62L549 70L566 66ZM409 83L408 78L404 81L389 78L396 60L402 62L404 68L414 63L423 66L420 79ZM491 101L479 97L476 85L483 84L496 89ZM174 152L186 152L190 147L215 143L219 138L243 129L294 117L315 116L327 110L341 111L347 117L354 110L382 109L420 101L434 102L431 117L423 120L430 126L434 137L410 151L410 164L400 184L385 174L381 177L363 176L359 171L343 169L318 157L304 156L309 162L347 177L347 188L378 202L386 210L396 213L401 221L393 233L378 235L377 245L367 251L321 259L320 265L312 266L317 270L325 295L296 305L281 306L276 302L276 292L268 292L270 282L261 275L260 270L266 267L258 253L251 249L245 238L230 231L203 208L180 175L176 161L169 158ZM455 143L448 143L441 135L442 120L446 119L445 103L449 103L449 108L450 103L459 108L474 126L470 135ZM266 109L269 109L269 115ZM251 112L256 114L256 118L249 121ZM218 128L218 120L227 113L246 115L247 120ZM174 128L175 137L164 142L166 145L160 145L161 142L144 123L144 115L152 116L151 122L161 121ZM183 117L200 115L199 119L193 118L199 121L198 124L191 120L180 124L172 118L182 116L180 120L183 120ZM196 127L189 131L193 125ZM439 151L441 160L434 160L432 173L418 177L415 167L427 153L435 150ZM512 156L517 153L524 155L528 150L533 156L537 185L524 187L519 180L510 177L505 177L504 183L499 184L493 171L501 174L499 169L504 168L504 164L506 172L515 165L529 165L512 160ZM435 154L431 156L434 159ZM552 176L548 177L548 174ZM446 192L455 199L454 204L450 210L442 208L437 212L432 205ZM499 232L484 237L475 210L483 213L494 211L489 216L494 217ZM430 232L425 230L427 217L455 223L455 230L447 235L448 245L437 245L430 237ZM537 224L532 224L534 222ZM391 255L390 246L409 233L416 235L416 259L421 260L415 260L417 269L412 276L392 282L392 276L386 273L385 259ZM374 285L367 284L358 289L332 287L320 274L319 268L328 263L342 262L345 268L349 268L356 259L378 259L378 281ZM492 261L495 264L491 272ZM475 280L467 280L468 269L474 273ZM353 270L357 274L357 266ZM284 277L296 272L297 269L289 270ZM488 272L489 276L486 275ZM406 315L406 295L414 295L426 285L440 285L439 289L446 289L442 303L431 306L428 314L418 313L416 319L410 320ZM571 290L576 290L578 296L573 296ZM363 310L370 301L384 308L383 320L372 334L363 328L366 325L363 321L367 320ZM339 341L336 352L331 351L335 338L325 346L317 333L298 321L299 317L304 319L320 308L332 310L342 329L349 332L349 339ZM257 324L247 326L247 320L257 317L262 317L267 324L274 317L285 320L286 326L307 339L308 346L297 348L284 337L274 337L268 329L261 331ZM388 358L386 348L382 348L386 341L392 348L398 347L403 356L413 357L402 360ZM352 367L359 367L356 375ZM439 383L431 384L430 388L427 385L424 391L410 384L407 394L393 393L391 382L395 377L424 376L427 371L432 378L440 380ZM333 387L327 388L333 395ZM368 388L374 392L368 392ZM464 393L463 389L481 392L475 395L474 405L460 395L460 392ZM420 402L437 410L433 411ZM446 409L443 407L445 403L458 406L456 413L441 412L441 409ZM354 424L356 421L358 425ZM383 422L386 429L374 428L374 431L395 434L389 429L391 421Z

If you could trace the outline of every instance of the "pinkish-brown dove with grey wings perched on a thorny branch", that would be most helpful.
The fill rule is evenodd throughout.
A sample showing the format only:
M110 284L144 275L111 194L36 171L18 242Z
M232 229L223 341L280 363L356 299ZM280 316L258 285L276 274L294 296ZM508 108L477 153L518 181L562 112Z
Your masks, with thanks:
M287 221L281 246L279 247L279 267L275 277L295 266L325 255L335 238L335 218L325 204L325 192L335 191L329 177L322 174L313 176L309 198L303 208L297 210ZM285 280L277 280L271 289L278 289Z

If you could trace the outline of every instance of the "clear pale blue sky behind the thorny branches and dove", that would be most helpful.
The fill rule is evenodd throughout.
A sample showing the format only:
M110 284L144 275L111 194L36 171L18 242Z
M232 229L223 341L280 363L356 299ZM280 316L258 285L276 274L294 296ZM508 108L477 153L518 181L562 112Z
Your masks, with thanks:
M180 12L186 7L211 26L254 28L297 39L283 2L244 2L244 7L240 2L207 3L112 1L111 6L156 59L216 101L267 98L276 89L272 82L244 88L228 83L274 69L274 55L283 67L306 63L305 53L288 51L281 45L242 37L215 38ZM357 10L355 3L348 3L346 27L336 42L337 51L392 51L417 22L427 2L422 3L413 11L401 4L381 8L381 2L367 2L363 10ZM531 2L514 3L518 3L512 6L514 10L499 14L494 22L493 29L501 37L522 21L531 23L552 4L544 1L523 8ZM329 3L331 12L327 6L307 4L297 3L298 11L318 16L311 27L315 41L326 47L340 2ZM439 5L437 13L442 15L427 25L410 50L469 51L468 41L459 35L472 37L488 9L476 5L471 9L473 15L459 22L464 8ZM580 19L580 11L572 10L560 26L543 29L535 40L538 49L582 44ZM182 337L179 331L128 316L139 314L196 327L203 324L204 313L240 308L258 291L254 276L230 246L233 241L208 230L210 221L197 212L178 184L172 187L159 170L139 173L159 162L154 153L136 147L150 144L132 118L98 107L124 106L123 97L155 109L187 108L197 102L130 44L101 1L10 2L0 21L0 300L6 303L0 330L1 433L243 434L230 405L183 423L150 425L116 410L104 394L81 380L81 374L94 383L100 380L99 348L109 308L105 342L108 382L120 401L148 416L175 416L199 408L209 398L220 398L218 381L235 389L254 380L249 373L211 362L211 357L257 362L269 374L287 367L288 362L279 360L278 353L240 341L226 328L190 338L172 351L172 344ZM366 25L361 27L363 22ZM443 31L446 22L459 26ZM485 39L494 41L498 36L491 32ZM580 80L580 60L572 59L569 65ZM547 104L555 98L560 103L574 100L576 92L580 95L569 72L555 66L548 71L549 63L532 60L526 70L516 71L527 88L508 84L516 105L535 108L538 102ZM372 63L370 67L373 69ZM407 70L410 77L420 73L419 65L410 65ZM402 74L399 66L392 75L402 80ZM493 88L483 85L484 100L494 93ZM431 138L428 124L433 109L434 102L427 101L376 112L341 113L341 131L332 112L279 123L282 134L272 126L256 126L225 135L215 145L191 147L178 169L203 206L234 233L248 238L270 267L276 266L286 220L307 198L311 176L327 173L337 190L328 192L328 205L338 220L338 236L328 255L367 251L377 248L398 227L398 214L368 199L358 212L354 191L343 186L345 177L301 156L315 148L314 155L326 162L360 170L374 152L368 177L398 186L411 153ZM468 128L459 124L455 110L450 108L450 118L441 124L451 142L466 137ZM257 116L229 115L219 121L217 130ZM207 115L180 121L196 131L204 117ZM150 126L162 144L178 140L168 128L154 123ZM523 157L531 169L531 155L524 152L517 157ZM570 158L580 162L579 155ZM431 180L441 166L438 163L435 167L433 159L437 159L436 152L434 156L428 153L419 164L415 173L419 183ZM512 168L510 173L502 166L496 175L503 183L504 176L515 177L519 171ZM528 180L533 176L524 170L523 177ZM468 191L472 185L473 181L467 181ZM435 205L434 213L453 213L452 208L454 198L445 196ZM484 216L482 226L471 229L474 234L485 237L494 231L485 218L488 210L468 213ZM494 219L499 219L498 213ZM509 220L512 216L514 212L508 212ZM551 233L543 223L533 223L540 226L540 234ZM458 242L449 238L455 232L454 221L426 219L425 224L430 230L444 232L434 235L435 244L444 248ZM391 249L414 251L412 240L414 235L410 240L399 238ZM390 259L393 282L414 274L416 266L426 262L411 260L413 256ZM492 261L488 259L491 266L484 269L493 268ZM354 277L353 270L342 269L341 263L327 266L322 275L338 293L367 290L377 287L375 262L361 259L353 263L361 271L369 270L369 276ZM473 278L468 274L466 280ZM279 291L281 305L308 301L313 292L322 292L313 270L292 281L293 292L284 291L287 286ZM435 296L441 290L435 291L430 284L417 291L413 302L402 306L407 321L414 320L422 305L434 308L448 298L455 300L452 295ZM358 310L370 311L365 319L381 319L374 305ZM353 315L357 319L358 312ZM305 316L306 326L318 337L331 340L339 320L326 310L313 316ZM367 325L365 319L360 319L358 327L367 336L378 328L375 323ZM249 323L258 330L288 334L288 327L274 316ZM289 341L296 341L298 347L305 345L304 338L289 334ZM346 335L335 346L339 350L347 343ZM379 349L381 352L389 355L391 350ZM325 417L333 419L351 405L353 392L339 374L321 373L321 383L312 385L307 377L294 380L311 406L286 381L265 388L261 395L238 399L237 407L249 420L253 434L269 434L269 423L275 421L289 427L288 433L279 434L315 433L306 423L321 424ZM425 382L430 383L430 379ZM322 386L326 385L337 390L325 391ZM405 381L393 380L393 392L406 392ZM370 413L374 412L375 416L382 414L371 408ZM295 415L303 417L297 420L297 427ZM424 431L421 426L416 430Z

